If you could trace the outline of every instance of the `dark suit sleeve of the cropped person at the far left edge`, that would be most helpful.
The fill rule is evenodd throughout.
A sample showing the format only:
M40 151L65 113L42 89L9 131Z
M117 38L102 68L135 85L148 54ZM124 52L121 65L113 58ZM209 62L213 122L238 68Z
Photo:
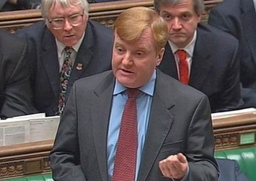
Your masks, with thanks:
M14 117L37 112L32 106L30 70L26 57L26 44L17 42L9 55L4 53L6 63L5 95L1 109L2 117ZM17 50L17 51L16 51Z

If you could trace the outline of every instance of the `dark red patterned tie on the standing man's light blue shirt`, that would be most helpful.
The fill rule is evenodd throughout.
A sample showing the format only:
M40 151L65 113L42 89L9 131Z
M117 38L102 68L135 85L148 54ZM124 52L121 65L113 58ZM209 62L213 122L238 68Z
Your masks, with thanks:
M127 89L128 100L122 113L112 181L134 181L136 174L138 131L136 97L139 89Z

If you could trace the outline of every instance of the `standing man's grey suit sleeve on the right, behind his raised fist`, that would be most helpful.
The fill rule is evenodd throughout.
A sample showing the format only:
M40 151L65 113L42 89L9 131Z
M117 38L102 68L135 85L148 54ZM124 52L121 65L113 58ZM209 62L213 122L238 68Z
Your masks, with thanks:
M208 98L197 105L187 134L185 156L189 164L189 181L217 181L218 166L213 158L214 138Z

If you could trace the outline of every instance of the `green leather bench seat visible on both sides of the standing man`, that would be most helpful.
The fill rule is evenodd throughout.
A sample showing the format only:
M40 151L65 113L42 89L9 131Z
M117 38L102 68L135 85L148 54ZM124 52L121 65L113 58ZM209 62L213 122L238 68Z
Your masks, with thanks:
M256 147L240 148L224 151L216 151L216 158L233 159L239 163L241 170L252 181L256 181ZM4 181L54 181L51 173L20 178L12 178Z

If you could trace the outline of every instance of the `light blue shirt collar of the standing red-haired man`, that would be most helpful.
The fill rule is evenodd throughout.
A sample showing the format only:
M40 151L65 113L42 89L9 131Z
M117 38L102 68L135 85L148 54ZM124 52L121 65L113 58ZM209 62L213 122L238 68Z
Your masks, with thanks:
M148 95L153 96L154 88L155 88L155 82L156 82L156 70L154 71L153 75L149 79L148 83L145 84L144 86L139 87L139 90L148 94ZM128 88L123 86L122 84L120 84L116 79L113 95L117 95L121 92L124 92L126 89L128 89Z

